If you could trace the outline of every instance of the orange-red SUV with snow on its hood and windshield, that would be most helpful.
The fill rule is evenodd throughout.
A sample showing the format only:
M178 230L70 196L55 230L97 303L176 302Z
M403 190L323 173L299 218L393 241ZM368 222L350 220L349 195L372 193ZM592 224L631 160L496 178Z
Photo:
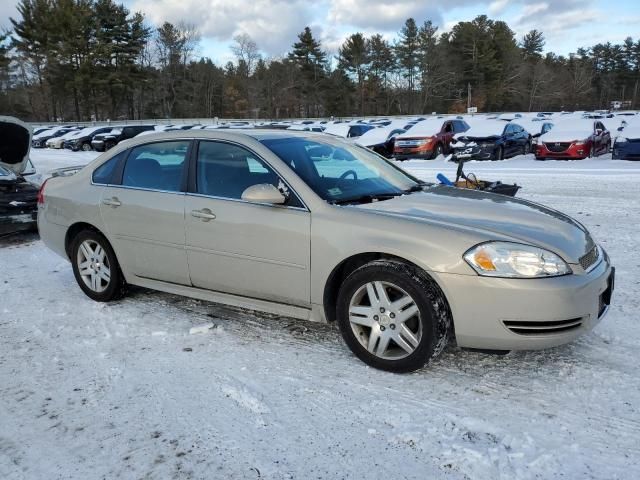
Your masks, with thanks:
M469 125L464 120L428 118L416 123L406 133L396 137L393 156L397 160L424 158L430 160L448 153L456 133L466 132Z

